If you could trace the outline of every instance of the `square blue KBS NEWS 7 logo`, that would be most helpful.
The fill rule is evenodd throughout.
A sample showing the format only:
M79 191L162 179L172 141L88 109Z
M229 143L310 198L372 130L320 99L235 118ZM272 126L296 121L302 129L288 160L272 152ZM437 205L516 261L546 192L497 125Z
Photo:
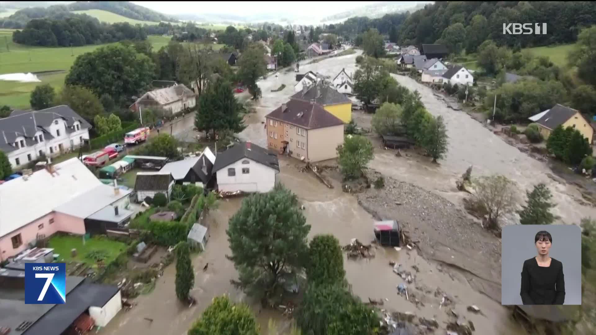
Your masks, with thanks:
M25 303L65 303L65 263L25 263Z

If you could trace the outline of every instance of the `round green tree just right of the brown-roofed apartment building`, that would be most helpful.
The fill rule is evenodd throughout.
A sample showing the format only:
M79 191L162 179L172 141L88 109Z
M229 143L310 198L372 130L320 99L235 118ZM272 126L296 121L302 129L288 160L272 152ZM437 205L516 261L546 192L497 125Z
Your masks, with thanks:
M346 180L360 178L373 157L373 144L362 135L346 135L337 147L337 162Z

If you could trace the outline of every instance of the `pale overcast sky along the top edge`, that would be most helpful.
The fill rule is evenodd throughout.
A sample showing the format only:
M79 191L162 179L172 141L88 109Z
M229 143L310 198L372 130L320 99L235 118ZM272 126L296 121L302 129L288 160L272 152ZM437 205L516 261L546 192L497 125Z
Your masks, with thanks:
M151 8L164 14L284 14L287 16L303 16L315 14L324 17L353 8L364 7L380 1L132 1L137 5Z

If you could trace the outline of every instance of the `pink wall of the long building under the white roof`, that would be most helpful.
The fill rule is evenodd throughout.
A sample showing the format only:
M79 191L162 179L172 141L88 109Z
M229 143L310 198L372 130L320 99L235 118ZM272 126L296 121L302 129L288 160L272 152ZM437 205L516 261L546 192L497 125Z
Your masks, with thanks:
M54 222L49 223L50 219ZM39 228L39 225L44 225ZM5 260L9 257L17 255L21 251L27 249L29 242L36 240L38 234L43 234L46 237L55 234L57 231L70 232L72 234L85 234L85 222L83 219L75 218L74 216L63 213L51 212L36 221L30 222L28 225L21 227L8 235L0 237L0 260ZM21 244L16 249L13 249L12 237L21 234Z

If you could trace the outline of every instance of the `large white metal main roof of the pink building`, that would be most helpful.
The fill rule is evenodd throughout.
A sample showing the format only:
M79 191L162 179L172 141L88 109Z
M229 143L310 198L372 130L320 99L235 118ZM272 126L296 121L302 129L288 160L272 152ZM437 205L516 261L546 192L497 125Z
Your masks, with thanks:
M77 158L0 185L0 237L103 185Z

